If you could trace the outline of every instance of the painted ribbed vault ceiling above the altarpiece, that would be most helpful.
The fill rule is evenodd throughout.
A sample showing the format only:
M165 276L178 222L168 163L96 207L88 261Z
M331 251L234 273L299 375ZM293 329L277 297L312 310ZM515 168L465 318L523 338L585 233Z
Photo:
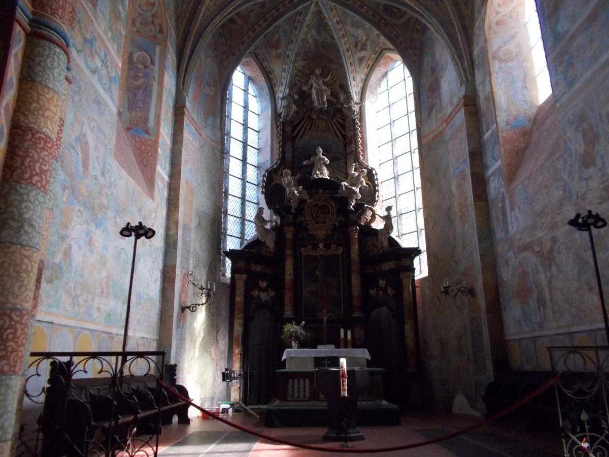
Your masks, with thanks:
M331 71L361 99L379 56L396 52L412 65L426 25L445 42L463 81L470 79L473 0L182 0L178 80L187 87L192 62L206 43L222 49L228 69L255 57L275 96L308 80L317 66Z

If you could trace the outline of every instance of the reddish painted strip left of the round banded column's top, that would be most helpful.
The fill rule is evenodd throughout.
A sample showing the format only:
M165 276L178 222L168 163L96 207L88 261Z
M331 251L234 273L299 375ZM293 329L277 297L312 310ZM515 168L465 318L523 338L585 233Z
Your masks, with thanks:
M0 49L8 52L0 55L0 172L4 164L8 145L10 122L19 88L19 71L23 61L26 34L30 32L32 13L27 7L14 0L11 5L0 7Z

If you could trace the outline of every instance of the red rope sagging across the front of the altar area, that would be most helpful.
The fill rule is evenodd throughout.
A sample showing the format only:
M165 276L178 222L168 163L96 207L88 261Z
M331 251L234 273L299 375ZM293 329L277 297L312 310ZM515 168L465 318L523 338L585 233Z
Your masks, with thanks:
M423 446L427 446L430 444L436 444L441 441L446 441L447 439L455 438L456 436L459 436L463 433L467 433L468 431L475 430L476 428L480 428L487 423L493 422L493 420L501 419L501 417L504 417L507 414L512 413L512 411L514 411L515 409L518 409L521 406L523 406L524 404L530 402L530 400L537 397L537 395L541 394L541 392L545 391L547 388L554 385L554 383L557 380L558 380L558 376L555 376L555 377L549 379L546 383L544 383L542 386L540 386L537 390L531 392L529 395L527 395L523 399L519 400L518 402L514 403L512 406L509 406L509 408L506 408L497 414L493 414L493 416L489 417L488 419L480 420L479 422L476 422L473 425L470 425L470 427L462 428L461 430L457 430L453 433L449 433L447 435L440 436L438 438L429 439L427 441L420 441L420 442L412 443L412 444L404 444L401 446L384 447L384 448L376 448L376 449L353 449L353 448L346 449L346 448L321 447L321 446L314 446L314 445L310 445L310 444L294 443L294 442L286 441L281 438L274 438L273 436L268 436L263 433L258 433L255 430L250 430L246 427L242 427L241 425L239 425L237 423L230 422L230 420L226 420L223 417L220 417L219 414L212 413L211 411L208 411L207 409L202 408L199 405L195 405L194 403L192 403L191 399L187 399L183 395L178 394L178 392L175 392L171 388L171 386L169 386L168 384L165 384L161 381L159 381L159 382L160 382L161 386L163 386L163 388L169 390L173 395L178 397L180 400L188 403L189 405L193 406L194 408L199 409L199 411L207 414L209 417L213 417L213 419L219 420L220 422L225 423L225 424L229 425L230 427L236 428L237 430L244 431L245 433L252 434L253 436L258 436L258 438L266 439L267 441L276 442L278 444L285 444L285 445L292 446L292 447L299 447L301 449L308 449L308 450L319 451L319 452L345 452L345 453L352 453L352 454L371 454L371 453L375 453L375 452L403 451L406 449L423 447Z

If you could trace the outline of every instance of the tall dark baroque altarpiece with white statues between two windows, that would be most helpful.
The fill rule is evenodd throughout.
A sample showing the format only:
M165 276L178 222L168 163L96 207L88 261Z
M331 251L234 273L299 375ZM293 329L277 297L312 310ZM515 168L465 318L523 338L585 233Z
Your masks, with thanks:
M391 216L378 210L359 104L332 72L310 74L300 96L288 93L280 107L276 161L262 182L272 220L260 209L258 236L225 252L232 369L243 374L242 401L264 405L276 396L285 322L305 322L301 344L310 348L339 347L340 328L348 329L353 347L368 349L368 366L385 369L385 398L404 405L420 371L413 267L420 250L392 238Z

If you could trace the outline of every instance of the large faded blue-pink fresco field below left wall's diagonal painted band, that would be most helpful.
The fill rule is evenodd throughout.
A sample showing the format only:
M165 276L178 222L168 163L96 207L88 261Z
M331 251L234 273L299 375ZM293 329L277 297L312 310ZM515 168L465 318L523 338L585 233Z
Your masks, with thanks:
M116 116L89 75L77 63L72 67L74 83L68 89L51 191L55 230L49 234L37 318L118 331L124 325L133 247L118 230L133 214L160 229L164 210L148 199L124 198L141 193L112 158ZM138 326L133 328L133 344L135 336L157 338L160 277L150 272L160 271L162 240L157 236L146 241L138 249L135 269L131 319Z

